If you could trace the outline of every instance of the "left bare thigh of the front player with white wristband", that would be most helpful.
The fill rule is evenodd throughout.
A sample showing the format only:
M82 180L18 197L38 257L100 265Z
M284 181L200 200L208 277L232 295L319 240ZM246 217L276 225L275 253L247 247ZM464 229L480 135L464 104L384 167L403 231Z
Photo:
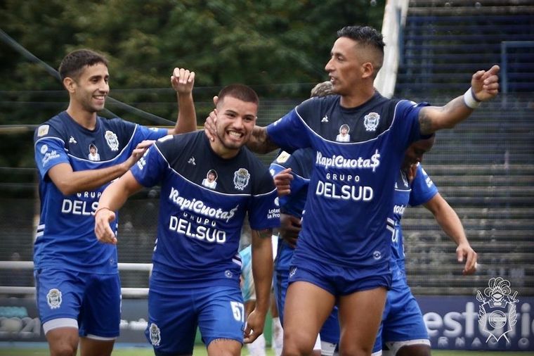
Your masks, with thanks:
M284 306L284 347L299 345L301 349L305 345L311 350L334 303L334 295L315 284L306 281L290 284Z

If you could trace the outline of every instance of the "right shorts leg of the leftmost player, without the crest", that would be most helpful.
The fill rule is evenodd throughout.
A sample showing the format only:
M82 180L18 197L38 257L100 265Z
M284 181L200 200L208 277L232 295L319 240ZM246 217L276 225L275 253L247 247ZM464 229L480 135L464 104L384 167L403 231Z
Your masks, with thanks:
M119 274L89 276L79 317L79 334L113 345L119 336L121 283ZM90 345L92 343L89 343Z

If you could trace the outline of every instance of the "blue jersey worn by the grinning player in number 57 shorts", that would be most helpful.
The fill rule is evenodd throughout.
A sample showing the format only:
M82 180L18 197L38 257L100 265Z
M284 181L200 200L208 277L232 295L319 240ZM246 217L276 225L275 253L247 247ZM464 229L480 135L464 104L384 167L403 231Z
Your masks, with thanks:
M280 224L273 177L263 163L246 147L234 158L219 157L204 132L159 139L131 172L143 186L161 184L152 257L160 279L234 286L245 214L254 230Z

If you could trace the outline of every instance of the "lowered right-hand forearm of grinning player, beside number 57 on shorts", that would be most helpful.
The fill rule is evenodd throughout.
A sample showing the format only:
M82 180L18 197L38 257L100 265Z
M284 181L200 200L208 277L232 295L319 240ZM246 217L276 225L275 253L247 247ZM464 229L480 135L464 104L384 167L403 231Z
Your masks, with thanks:
M245 343L252 343L263 333L265 317L271 305L273 283L273 229L252 230L252 278L256 289L256 305L247 318Z

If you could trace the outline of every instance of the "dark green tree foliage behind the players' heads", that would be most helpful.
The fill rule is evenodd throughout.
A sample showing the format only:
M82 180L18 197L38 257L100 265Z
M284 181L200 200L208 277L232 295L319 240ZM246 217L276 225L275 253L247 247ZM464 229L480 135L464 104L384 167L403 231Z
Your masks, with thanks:
M110 96L174 120L169 76L195 70L195 101L230 82L261 98L306 98L324 70L336 31L382 24L384 2L369 0L4 0L1 30L41 61L58 68L68 51L90 48L110 60ZM0 43L0 125L35 125L64 110L60 82ZM108 103L108 108L114 111ZM142 117L117 110L127 120ZM6 137L7 136L7 137ZM2 149L20 150L0 166L32 167L31 134L3 135Z

